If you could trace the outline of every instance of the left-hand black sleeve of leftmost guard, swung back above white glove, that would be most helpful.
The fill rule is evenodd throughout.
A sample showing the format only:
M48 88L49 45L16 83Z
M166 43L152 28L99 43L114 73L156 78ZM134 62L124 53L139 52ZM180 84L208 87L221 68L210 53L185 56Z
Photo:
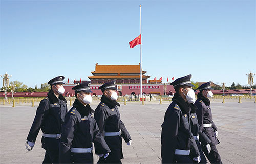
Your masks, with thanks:
M46 115L46 112L48 112L48 109L49 109L49 101L45 98L41 100L36 110L36 115L27 137L28 141L35 142L36 137L39 133L39 130L42 126L44 116Z

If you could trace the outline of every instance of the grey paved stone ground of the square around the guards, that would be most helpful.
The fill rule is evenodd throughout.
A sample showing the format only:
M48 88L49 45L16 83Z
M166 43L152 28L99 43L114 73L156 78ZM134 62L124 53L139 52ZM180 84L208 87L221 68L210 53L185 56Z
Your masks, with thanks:
M123 103L121 103L123 104ZM123 163L161 163L161 124L169 102L127 103L119 108L121 119L132 136L133 143L123 143ZM69 107L70 108L70 107ZM96 104L92 105L96 108ZM211 103L215 124L219 128L217 149L223 163L255 163L256 103ZM32 151L25 141L33 122L36 107L0 106L0 163L41 163L45 150L41 148L39 132ZM94 156L94 163L98 160Z

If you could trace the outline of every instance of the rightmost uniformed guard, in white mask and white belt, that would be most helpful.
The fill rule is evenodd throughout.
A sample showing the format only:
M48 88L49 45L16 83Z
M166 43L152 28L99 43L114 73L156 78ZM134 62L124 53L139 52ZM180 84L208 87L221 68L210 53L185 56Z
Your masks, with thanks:
M200 93L198 93L198 99L195 102L195 105L198 107L196 113L201 131L203 131L211 140L211 150L209 154L207 148L205 146L202 146L204 154L206 155L210 163L222 163L221 157L216 148L216 145L220 143L219 140L217 139L218 128L212 121L210 100L207 98L213 97L211 89L212 88L210 87L210 81L198 87Z

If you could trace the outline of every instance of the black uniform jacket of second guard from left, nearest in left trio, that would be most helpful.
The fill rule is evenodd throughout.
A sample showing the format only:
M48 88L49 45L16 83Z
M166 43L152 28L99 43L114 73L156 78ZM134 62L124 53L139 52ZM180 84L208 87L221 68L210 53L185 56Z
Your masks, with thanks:
M62 135L59 145L59 162L71 162L71 148L91 148L92 142L97 144L96 154L110 152L108 145L92 115L94 111L89 104L84 106L79 100L75 100L73 107L65 117L62 127Z

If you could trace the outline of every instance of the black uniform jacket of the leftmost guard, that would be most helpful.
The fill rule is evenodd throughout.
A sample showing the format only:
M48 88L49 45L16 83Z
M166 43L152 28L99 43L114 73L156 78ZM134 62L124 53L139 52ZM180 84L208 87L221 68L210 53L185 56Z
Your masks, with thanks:
M27 137L30 142L35 142L40 129L46 134L61 133L61 126L68 112L67 100L62 95L57 98L53 90L50 90L47 95L41 100L36 110L35 119ZM44 149L58 150L59 139L43 136L41 142Z

